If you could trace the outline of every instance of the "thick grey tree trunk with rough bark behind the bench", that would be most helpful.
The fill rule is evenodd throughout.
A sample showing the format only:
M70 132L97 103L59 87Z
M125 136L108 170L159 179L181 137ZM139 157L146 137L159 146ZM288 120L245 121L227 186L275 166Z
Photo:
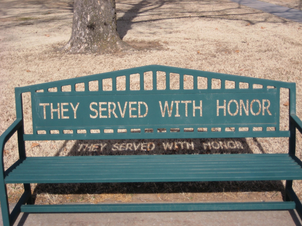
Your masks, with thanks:
M62 48L69 53L131 50L117 33L115 0L75 0L72 34Z

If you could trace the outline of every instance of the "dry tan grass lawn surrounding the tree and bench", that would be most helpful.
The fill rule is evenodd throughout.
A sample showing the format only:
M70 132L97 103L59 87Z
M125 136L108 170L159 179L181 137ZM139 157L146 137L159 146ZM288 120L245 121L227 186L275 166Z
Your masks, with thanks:
M0 15L0 82L2 114L0 131L15 119L14 87L80 77L89 74L162 64L174 67L236 74L241 76L281 80L297 83L297 115L302 116L302 26L259 10L240 6L226 0L209 1L117 1L118 31L123 40L140 46L140 51L117 55L66 55L56 52L71 34L72 6L68 1L2 1ZM265 29L261 29L265 27ZM135 44L136 43L136 44ZM146 50L145 50L146 49ZM164 75L158 75L158 87L152 87L146 73L144 87L165 87ZM173 75L178 88L178 76ZM192 87L191 77L185 77L185 88ZM131 87L140 82L131 78ZM108 83L106 83L108 82ZM111 81L103 81L105 89L112 89ZM125 89L124 78L117 87ZM219 84L216 84L219 86ZM94 84L97 87L96 84ZM206 88L198 79L198 88ZM232 84L226 84L232 87ZM92 86L93 87L93 86ZM78 84L77 89L82 89ZM168 87L167 87L168 88ZM66 91L69 87L65 87ZM27 94L24 96L26 97ZM288 106L283 105L288 91L281 91L281 128L288 129ZM32 133L30 102L25 98L25 131ZM122 148L112 151L114 143L153 142L150 154L184 153L285 153L287 138L192 139L192 140L97 140L97 141L37 141L31 148L26 142L28 156L54 155L112 155L145 154L148 150L131 151ZM164 148L162 143L174 143ZM194 150L182 149L182 142L194 142ZM220 142L222 145L220 145ZM233 142L233 143L230 143ZM104 146L107 144L106 146ZM228 146L232 144L231 146ZM301 134L297 133L297 156L301 159ZM102 149L103 147L103 149ZM126 146L127 147L127 146ZM148 153L149 153L148 152ZM18 159L14 135L5 146L7 168ZM283 182L220 182L220 183L143 183L143 184L32 184L37 203L65 201L161 201L161 200L263 200L277 197L284 189ZM302 197L300 181L294 189ZM255 191L258 193L251 193ZM263 191L268 191L265 193ZM20 196L22 185L8 185L10 202ZM204 199L204 192L210 192ZM63 195L69 193L69 195ZM95 194L94 194L95 193ZM146 193L146 194L142 194ZM167 193L168 196L165 196ZM131 196L133 194L133 196ZM169 196L170 194L170 196ZM193 195L192 195L193 194ZM249 194L249 195L246 195ZM273 195L275 194L275 195ZM157 198L159 195L159 198ZM130 197L131 196L131 197ZM186 197L186 198L185 198ZM245 197L245 198L244 198ZM280 197L280 195L278 196ZM141 199L139 199L141 198ZM82 199L82 200L81 200Z

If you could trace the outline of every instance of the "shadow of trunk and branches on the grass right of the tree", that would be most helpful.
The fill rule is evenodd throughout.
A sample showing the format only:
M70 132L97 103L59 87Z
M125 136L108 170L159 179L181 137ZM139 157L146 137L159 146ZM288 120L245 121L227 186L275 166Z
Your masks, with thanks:
M191 1L192 2L192 1ZM193 1L194 2L194 1ZM213 4L219 4L217 1L207 1L207 2L200 2L195 1L196 4L201 5L213 5ZM150 23L150 22L158 22L158 21L164 21L164 20L174 20L174 19L184 19L184 18L211 18L214 20L221 19L221 20L233 20L233 21L245 21L249 25L255 25L258 23L287 23L288 21L279 18L280 20L278 22L270 22L270 17L274 17L274 15L267 14L267 16L261 20L259 17L257 17L257 20L252 20L249 17L252 15L258 15L263 14L262 11L256 11L256 12L250 12L250 13L230 13L231 10L241 9L241 5L238 5L238 7L226 7L225 9L218 9L218 10L209 10L209 11L177 11L174 7L175 5L172 4L188 4L188 2L180 2L177 0L142 0L138 3L128 3L127 5L130 6L130 8L127 11L121 11L119 8L117 8L117 12L123 12L124 15L117 19L117 32L121 39L124 38L124 36L127 34L129 30L132 29L133 24L140 24L140 23ZM225 2L223 2L224 5ZM120 4L126 4L126 3L120 3ZM157 12L156 10L164 9L163 12ZM183 8L183 7L180 7ZM254 10L255 11L255 10ZM147 20L140 20L140 17L146 17L145 15L152 15L152 17L158 17L154 19L147 19ZM194 14L194 15L188 15L188 14ZM197 14L197 15L196 15ZM200 15L198 15L200 14Z

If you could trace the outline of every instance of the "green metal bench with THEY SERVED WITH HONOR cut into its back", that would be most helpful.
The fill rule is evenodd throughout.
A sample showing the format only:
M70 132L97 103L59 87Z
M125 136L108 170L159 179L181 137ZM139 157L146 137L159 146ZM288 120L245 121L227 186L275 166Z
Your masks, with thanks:
M144 72L147 71L151 71L153 76L151 90L144 89ZM166 74L166 88L163 90L156 88L157 71ZM130 90L130 75L136 73L140 74L140 90ZM179 89L170 89L170 73L180 74ZM184 89L184 75L193 76L192 89ZM120 76L126 76L125 90L116 89L115 81ZM207 87L198 89L198 77L207 79ZM106 78L112 78L111 91L101 88L102 80ZM212 88L212 79L221 81L220 89ZM235 87L227 89L226 80L235 82ZM98 91L89 90L91 81L98 81ZM240 89L241 82L248 83L248 88ZM78 83L84 83L85 91L76 91ZM262 88L253 88L254 84ZM71 90L64 92L62 86L71 86ZM280 88L290 90L288 131L279 129ZM25 92L31 92L33 134L24 134L21 94ZM292 181L302 179L302 162L295 156L296 128L302 132L302 122L296 116L295 83L150 65L15 88L15 97L17 119L0 137L3 169L0 200L5 226L13 225L20 212L296 209L301 217L302 206L292 189ZM240 127L248 127L248 131L240 131ZM263 129L253 131L254 127ZM268 127L275 130L267 131ZM228 131L226 128L234 129ZM136 133L132 129L137 129ZM59 134L52 133L54 130ZM85 133L78 133L79 130ZM16 131L20 159L5 171L4 146ZM24 145L26 140L236 137L289 137L289 152L26 157ZM235 180L286 180L285 201L33 205L30 187L31 183ZM10 213L6 184L11 183L24 184L25 191Z

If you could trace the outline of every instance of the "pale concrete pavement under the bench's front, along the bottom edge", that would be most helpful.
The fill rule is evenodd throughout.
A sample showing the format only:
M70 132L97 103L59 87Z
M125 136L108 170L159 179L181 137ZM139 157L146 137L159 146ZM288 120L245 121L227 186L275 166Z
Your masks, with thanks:
M13 206L11 206L13 208ZM302 226L297 212L21 213L15 226ZM0 225L2 224L2 216Z

